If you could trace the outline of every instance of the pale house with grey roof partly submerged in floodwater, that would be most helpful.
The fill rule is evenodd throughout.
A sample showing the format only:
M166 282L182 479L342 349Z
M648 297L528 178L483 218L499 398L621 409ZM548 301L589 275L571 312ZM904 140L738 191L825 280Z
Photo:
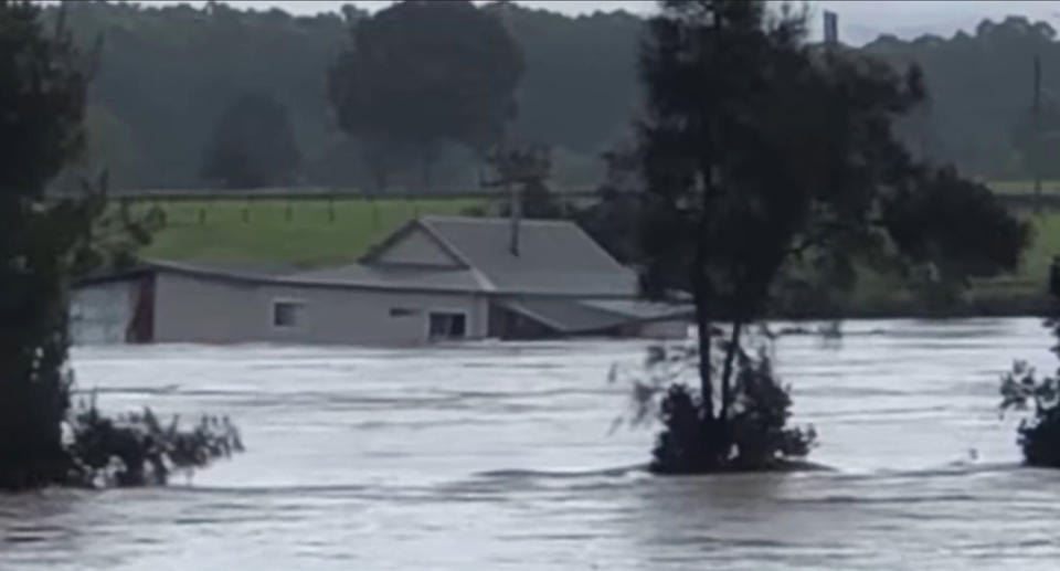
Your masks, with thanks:
M683 337L688 307L568 221L425 216L359 263L268 274L170 262L86 279L75 342L418 345L574 335Z

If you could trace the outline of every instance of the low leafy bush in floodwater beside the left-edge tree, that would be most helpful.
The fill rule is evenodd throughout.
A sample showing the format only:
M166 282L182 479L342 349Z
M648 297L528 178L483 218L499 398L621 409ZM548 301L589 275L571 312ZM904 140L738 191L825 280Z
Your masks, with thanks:
M95 395L67 422L67 484L89 487L163 486L170 474L205 467L243 452L239 430L225 419L203 416L191 429L179 416L162 425L150 409L109 419Z

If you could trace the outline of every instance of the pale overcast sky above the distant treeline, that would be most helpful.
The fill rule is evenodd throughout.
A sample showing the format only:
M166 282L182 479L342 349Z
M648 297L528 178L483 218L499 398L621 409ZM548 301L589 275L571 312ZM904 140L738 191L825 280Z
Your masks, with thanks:
M162 0L155 0L156 2ZM168 3L174 3L165 0ZM648 13L655 2L645 0L517 0L533 8L545 8L565 13L586 13L594 10L618 10ZM201 0L188 2L202 4ZM267 9L278 7L300 14L337 11L343 1L331 0L230 0L242 8ZM352 2L369 10L390 4L385 0L358 0ZM1048 1L867 1L867 0L813 0L810 9L817 14L814 29L819 33L819 14L823 9L839 14L839 33L844 42L860 45L882 33L899 38L914 38L924 33L953 35L960 29L974 30L983 19L1003 19L1008 14L1022 14L1031 20L1045 20L1060 29L1060 2Z

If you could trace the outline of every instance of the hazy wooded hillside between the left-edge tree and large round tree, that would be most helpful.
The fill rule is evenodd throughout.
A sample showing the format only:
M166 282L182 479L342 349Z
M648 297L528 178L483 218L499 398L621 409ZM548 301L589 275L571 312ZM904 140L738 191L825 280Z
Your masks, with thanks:
M322 85L347 36L338 14L293 17L225 2L67 2L66 10L80 45L102 39L84 160L107 167L115 189L201 184L215 119L246 93L267 93L288 109L307 167L341 142ZM56 13L45 9L46 19Z

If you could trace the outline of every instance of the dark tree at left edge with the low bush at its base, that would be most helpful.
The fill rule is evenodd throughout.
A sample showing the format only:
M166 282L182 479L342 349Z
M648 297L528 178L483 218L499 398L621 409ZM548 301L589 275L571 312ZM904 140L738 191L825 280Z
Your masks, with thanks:
M78 275L121 267L150 224L107 207L106 173L76 198L44 189L84 148L94 57L63 20L35 3L0 0L0 489L163 484L172 469L242 448L229 422L182 431L145 412L108 419L95 402L72 409L67 294Z

